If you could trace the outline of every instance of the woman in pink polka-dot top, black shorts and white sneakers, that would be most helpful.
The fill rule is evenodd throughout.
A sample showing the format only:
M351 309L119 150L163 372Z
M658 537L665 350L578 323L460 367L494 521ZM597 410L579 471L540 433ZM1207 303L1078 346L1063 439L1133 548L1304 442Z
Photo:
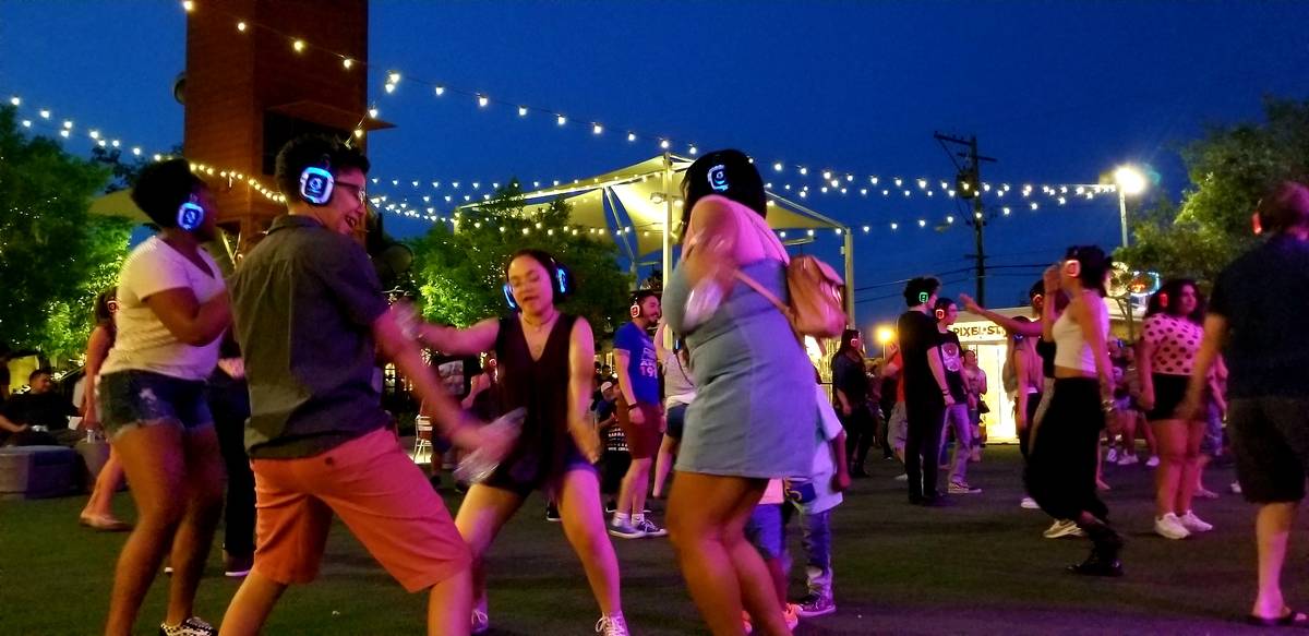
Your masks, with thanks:
M1155 471L1155 534L1185 539L1213 526L1191 510L1200 470L1203 419L1177 414L1186 381L1195 364L1204 330L1204 300L1195 281L1174 279L1151 296L1141 325L1139 368L1141 406L1158 440L1160 465Z

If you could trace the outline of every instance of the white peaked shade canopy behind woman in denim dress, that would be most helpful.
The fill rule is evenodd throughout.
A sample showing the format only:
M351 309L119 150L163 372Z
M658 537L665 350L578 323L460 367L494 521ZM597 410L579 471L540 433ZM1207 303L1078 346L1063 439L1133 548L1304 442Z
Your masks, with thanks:
M662 251L664 271L672 271L672 236L682 217L682 177L691 160L662 154L619 170L545 190L525 192L531 213L563 198L571 207L569 222L584 228L605 228L632 263ZM479 204L461 209L476 209ZM853 241L850 228L813 209L768 192L768 226L774 230L834 229L844 237L846 289L853 289ZM853 321L853 302L846 294L847 314Z

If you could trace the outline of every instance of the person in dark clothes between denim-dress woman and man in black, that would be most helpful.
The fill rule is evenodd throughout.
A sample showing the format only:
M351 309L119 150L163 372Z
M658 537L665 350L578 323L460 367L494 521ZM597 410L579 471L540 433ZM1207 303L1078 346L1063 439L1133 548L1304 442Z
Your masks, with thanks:
M831 356L831 389L836 415L846 428L850 475L865 478L864 462L873 448L877 428L868 404L868 376L864 373L864 345L859 330L847 328L840 335L840 347Z

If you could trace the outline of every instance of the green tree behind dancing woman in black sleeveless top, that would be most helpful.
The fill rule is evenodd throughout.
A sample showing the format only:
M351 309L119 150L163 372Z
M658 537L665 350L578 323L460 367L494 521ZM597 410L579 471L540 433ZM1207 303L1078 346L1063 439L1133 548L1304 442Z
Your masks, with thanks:
M585 317L597 335L611 334L627 317L631 280L618 267L613 241L571 226L568 213L562 199L526 211L514 179L479 208L457 212L454 229L433 225L410 243L423 315L467 326L504 314L505 260L533 247L554 254L572 272L576 293L564 309Z

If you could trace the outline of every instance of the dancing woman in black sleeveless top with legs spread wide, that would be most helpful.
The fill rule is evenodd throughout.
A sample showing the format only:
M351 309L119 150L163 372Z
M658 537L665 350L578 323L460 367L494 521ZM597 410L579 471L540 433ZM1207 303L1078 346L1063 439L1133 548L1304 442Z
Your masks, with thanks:
M572 293L572 277L550 254L517 251L505 263L504 275L511 315L466 330L420 326L420 338L444 353L495 351L501 407L526 410L513 449L487 479L469 488L454 520L473 548L474 633L490 627L486 554L528 495L545 491L559 505L564 537L581 559L600 605L596 631L626 635L618 557L605 534L600 478L592 466L600 459L600 438L588 416L596 359L590 325L559 310L558 304ZM653 355L651 351L652 366ZM658 431L657 420L651 425Z

